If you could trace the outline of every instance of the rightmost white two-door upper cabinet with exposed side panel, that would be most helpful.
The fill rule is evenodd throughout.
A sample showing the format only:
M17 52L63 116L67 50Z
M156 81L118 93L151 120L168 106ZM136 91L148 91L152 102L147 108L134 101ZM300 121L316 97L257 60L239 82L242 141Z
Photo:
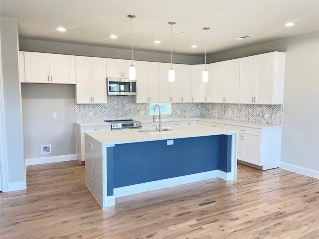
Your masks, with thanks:
M283 104L285 55L270 52L240 59L239 103Z

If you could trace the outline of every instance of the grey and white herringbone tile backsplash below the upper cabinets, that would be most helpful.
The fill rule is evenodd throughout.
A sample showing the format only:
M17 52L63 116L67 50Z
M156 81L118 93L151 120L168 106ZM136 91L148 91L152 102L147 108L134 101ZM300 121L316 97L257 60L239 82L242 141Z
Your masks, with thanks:
M75 121L94 122L106 119L153 119L149 115L149 104L132 103L131 96L108 96L107 101L107 104L75 105ZM232 112L232 114L230 115L229 112ZM209 117L282 125L283 115L283 105L172 103L171 114L163 115L162 117Z

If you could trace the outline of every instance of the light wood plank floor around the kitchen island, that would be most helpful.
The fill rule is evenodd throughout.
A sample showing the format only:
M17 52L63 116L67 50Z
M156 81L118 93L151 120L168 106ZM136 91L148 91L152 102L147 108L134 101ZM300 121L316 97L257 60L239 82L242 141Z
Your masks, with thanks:
M27 167L0 193L1 239L318 239L319 180L238 165L211 179L116 199L102 210L77 161Z

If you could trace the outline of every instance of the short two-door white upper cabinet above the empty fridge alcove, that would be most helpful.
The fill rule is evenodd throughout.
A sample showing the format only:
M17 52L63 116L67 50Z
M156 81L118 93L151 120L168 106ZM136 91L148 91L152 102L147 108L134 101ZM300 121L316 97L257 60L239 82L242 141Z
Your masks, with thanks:
M24 52L25 82L75 84L75 56Z

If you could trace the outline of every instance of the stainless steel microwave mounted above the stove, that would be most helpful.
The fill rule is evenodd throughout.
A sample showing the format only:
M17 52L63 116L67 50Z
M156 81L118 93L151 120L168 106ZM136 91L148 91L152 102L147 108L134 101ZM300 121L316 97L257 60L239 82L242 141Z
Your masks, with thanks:
M106 78L108 95L134 96L136 92L136 80L126 78Z

